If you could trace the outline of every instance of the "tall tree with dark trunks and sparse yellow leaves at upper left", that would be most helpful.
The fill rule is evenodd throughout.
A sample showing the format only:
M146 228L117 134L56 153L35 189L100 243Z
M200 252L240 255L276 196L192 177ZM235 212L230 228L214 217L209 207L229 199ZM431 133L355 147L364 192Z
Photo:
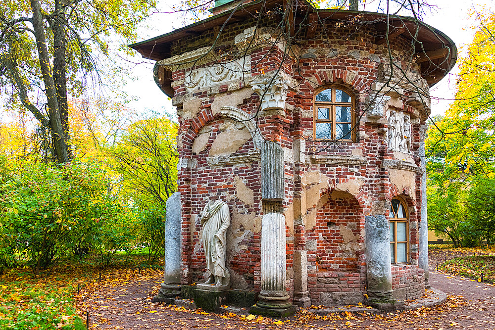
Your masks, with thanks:
M94 54L109 55L110 31L124 43L134 38L137 23L154 5L154 0L2 2L1 92L38 120L54 161L73 157L68 97L83 93L88 75L98 79Z

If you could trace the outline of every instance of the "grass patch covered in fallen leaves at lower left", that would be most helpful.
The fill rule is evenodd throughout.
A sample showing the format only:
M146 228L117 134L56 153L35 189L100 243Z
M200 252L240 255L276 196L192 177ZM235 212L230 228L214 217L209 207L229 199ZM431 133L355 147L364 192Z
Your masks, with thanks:
M156 269L162 267L146 265L146 261L143 254L134 254L127 261L125 256L115 256L107 267L100 266L98 256L81 262L67 260L40 277L28 268L12 269L0 276L0 329L86 329L76 310L82 297L95 287L134 279L138 272L143 279L156 276L160 272Z

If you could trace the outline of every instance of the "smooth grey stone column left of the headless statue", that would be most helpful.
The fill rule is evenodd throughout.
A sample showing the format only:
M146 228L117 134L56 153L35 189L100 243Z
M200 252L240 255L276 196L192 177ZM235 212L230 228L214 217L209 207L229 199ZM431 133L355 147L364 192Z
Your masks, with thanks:
M165 276L164 283L153 301L173 302L181 293L181 195L167 199L165 220Z

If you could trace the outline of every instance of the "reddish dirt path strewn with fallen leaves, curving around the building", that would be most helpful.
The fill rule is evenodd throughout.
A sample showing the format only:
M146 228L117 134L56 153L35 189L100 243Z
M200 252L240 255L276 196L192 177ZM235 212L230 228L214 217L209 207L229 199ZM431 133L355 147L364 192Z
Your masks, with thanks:
M495 329L495 286L437 273L434 267L431 285L449 295L442 305L384 315L321 317L303 311L282 320L282 324L268 318L191 312L154 304L151 298L159 283L157 278L102 289L78 307L89 311L90 329ZM82 316L86 320L86 315Z

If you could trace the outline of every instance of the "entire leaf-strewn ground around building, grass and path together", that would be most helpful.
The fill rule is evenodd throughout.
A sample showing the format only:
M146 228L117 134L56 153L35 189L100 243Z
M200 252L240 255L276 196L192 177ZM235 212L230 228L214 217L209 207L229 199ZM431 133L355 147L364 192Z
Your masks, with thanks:
M66 263L38 279L28 269L17 269L0 277L0 329L81 330L87 315L90 329L495 329L494 285L437 273L437 260L460 256L461 251L450 250L430 250L430 283L448 294L442 305L382 315L343 311L318 316L302 310L284 320L154 304L162 269L140 270L135 260L104 269Z

